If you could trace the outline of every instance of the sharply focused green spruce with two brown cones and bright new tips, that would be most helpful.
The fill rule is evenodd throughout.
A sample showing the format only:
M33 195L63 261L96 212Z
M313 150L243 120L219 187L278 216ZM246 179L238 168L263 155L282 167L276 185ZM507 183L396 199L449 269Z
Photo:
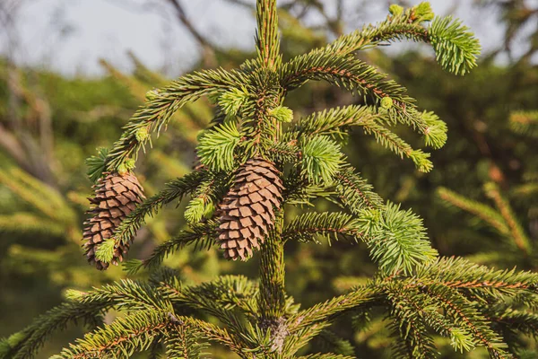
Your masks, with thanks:
M472 33L451 17L434 16L428 3L409 9L392 5L384 22L283 63L276 1L258 0L256 15L255 60L237 70L188 74L149 92L112 149L91 161L98 183L92 202L99 210L84 235L91 239L87 254L104 269L121 260L118 250L128 249L147 215L190 195L189 228L150 258L127 262L126 268L132 273L158 269L163 258L188 244L201 249L218 244L232 259L247 260L259 251L259 282L222 276L185 285L161 268L148 282L124 280L89 292L72 291L68 302L5 338L0 355L32 356L56 329L84 321L94 328L57 358L128 357L141 351L151 357L200 357L208 342L239 357L348 358L353 357L349 345L329 328L344 313L360 326L381 311L390 323L392 357L436 357L434 335L447 337L456 351L481 346L491 357L514 357L513 334L536 333L538 275L439 257L421 218L385 203L341 152L350 128L362 127L420 171L430 171L430 154L414 149L392 127L411 127L424 144L438 149L447 139L447 126L434 113L418 110L404 87L355 53L412 39L429 43L449 72L466 74L479 52ZM294 118L284 106L288 92L320 80L362 95L365 104ZM202 96L210 96L217 111L199 137L200 164L135 206L143 197L134 177L139 151L178 109ZM317 200L341 210L294 215L293 207ZM114 215L117 211L123 215ZM100 221L124 216L122 221ZM301 310L284 288L283 246L324 238L365 243L378 273L348 293ZM103 313L110 309L125 311L125 316L103 324ZM308 355L308 342L317 336L347 354Z

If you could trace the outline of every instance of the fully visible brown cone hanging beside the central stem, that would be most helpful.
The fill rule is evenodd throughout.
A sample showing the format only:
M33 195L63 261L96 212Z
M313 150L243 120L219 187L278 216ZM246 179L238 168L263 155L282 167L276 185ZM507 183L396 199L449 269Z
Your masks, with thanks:
M224 257L246 260L274 224L274 210L282 201L280 171L263 158L248 160L237 171L230 192L222 200L219 241Z

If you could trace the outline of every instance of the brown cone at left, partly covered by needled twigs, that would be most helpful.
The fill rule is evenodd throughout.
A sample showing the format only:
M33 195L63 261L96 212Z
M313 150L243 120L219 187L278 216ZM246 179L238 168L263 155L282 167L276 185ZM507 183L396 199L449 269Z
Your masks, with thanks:
M100 178L95 186L95 197L89 198L94 207L88 212L91 219L84 222L82 247L86 252L88 262L94 263L99 270L107 269L108 263L95 258L96 246L108 240L117 226L133 212L137 204L143 202L143 188L131 173L121 176L118 173L108 173ZM114 250L112 263L123 260L123 255L129 250L130 243L118 246Z

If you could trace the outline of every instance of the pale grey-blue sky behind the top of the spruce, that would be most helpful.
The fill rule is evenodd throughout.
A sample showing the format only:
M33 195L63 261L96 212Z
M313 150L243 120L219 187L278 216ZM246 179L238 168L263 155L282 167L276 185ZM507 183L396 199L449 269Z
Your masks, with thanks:
M128 68L127 50L155 69L175 75L189 68L196 57L195 42L171 20L170 15L139 8L145 0L19 0L26 1L17 17L15 58L20 63L46 66L65 74L100 74L99 58ZM255 0L251 0L252 3ZM252 14L224 0L184 0L195 26L222 47L254 46ZM331 3L331 0L325 0ZM368 0L367 12L359 12L358 0L347 1L350 28L365 21L382 20L389 2ZM419 1L412 1L419 3ZM456 12L473 28L484 48L500 39L496 13L478 13L460 0ZM446 14L452 1L433 0L434 11ZM147 9L146 9L147 10ZM311 18L310 22L318 19ZM351 30L351 29L350 29ZM6 34L0 32L0 51L7 51Z

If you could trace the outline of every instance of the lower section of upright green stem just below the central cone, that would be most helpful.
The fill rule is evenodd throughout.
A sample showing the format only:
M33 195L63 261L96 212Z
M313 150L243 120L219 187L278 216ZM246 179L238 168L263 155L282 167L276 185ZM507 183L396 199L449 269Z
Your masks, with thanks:
M282 242L283 213L275 219L274 230L267 236L260 260L260 296L258 305L262 320L273 326L284 315L284 243Z

